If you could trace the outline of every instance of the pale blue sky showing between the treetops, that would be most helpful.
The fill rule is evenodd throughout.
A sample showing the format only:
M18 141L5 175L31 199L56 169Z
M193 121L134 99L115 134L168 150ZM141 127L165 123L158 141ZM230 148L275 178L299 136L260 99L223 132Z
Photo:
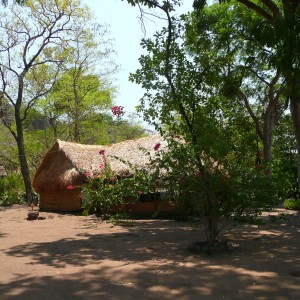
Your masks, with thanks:
M139 99L145 92L139 85L128 80L130 72L134 73L140 67L138 58L143 53L140 41L144 33L138 18L139 9L128 4L126 0L82 0L82 2L91 8L99 23L108 24L110 27L110 37L114 40L117 52L117 63L121 67L121 71L115 76L114 84L118 88L118 93L114 104L124 106L126 115L134 113ZM193 0L183 2L176 14L192 9ZM166 26L166 22L148 21L146 37L151 37L162 26Z

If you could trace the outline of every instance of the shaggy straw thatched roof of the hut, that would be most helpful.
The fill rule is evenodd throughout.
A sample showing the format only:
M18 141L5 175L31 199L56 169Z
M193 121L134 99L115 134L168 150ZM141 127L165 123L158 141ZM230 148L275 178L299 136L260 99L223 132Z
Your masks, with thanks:
M124 164L114 157L127 161L138 168L145 168L149 162L149 156L141 148L153 156L158 153L154 150L157 144L160 144L158 151L167 148L167 142L160 135L108 146L82 145L57 140L39 166L33 179L33 186L37 192L55 192L66 189L68 184L81 184L86 179L86 172L99 173L101 166L105 163L104 159L116 174L130 174L133 170L128 164ZM99 154L101 150L104 150L105 155Z

